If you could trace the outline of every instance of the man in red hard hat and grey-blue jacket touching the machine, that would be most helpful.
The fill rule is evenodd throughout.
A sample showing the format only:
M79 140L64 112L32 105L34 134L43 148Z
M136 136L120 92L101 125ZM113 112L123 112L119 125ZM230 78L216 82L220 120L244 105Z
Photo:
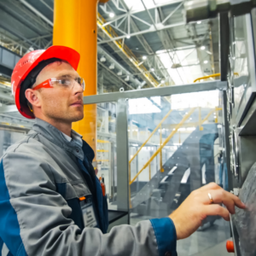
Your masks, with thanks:
M106 234L107 198L91 164L94 152L71 129L84 118L84 79L76 72L78 65L78 52L52 46L25 55L15 67L16 106L36 122L0 162L5 255L177 255L177 239L190 236L204 218L229 220L235 205L245 207L210 183L192 192L169 217L136 227L119 225Z

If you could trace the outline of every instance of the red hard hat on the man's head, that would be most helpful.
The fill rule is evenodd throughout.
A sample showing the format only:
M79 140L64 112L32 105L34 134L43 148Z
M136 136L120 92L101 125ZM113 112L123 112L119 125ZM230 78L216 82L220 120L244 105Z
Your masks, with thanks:
M44 67L57 60L67 61L73 69L77 70L80 55L76 50L69 47L54 45L48 49L34 50L24 55L16 64L11 78L12 93L15 96L15 104L18 110L26 118L35 118L27 106L26 89L32 86L38 73Z

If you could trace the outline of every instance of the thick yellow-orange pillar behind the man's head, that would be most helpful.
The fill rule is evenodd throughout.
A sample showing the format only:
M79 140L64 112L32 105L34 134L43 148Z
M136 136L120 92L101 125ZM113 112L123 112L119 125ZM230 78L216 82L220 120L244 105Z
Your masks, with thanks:
M78 73L85 81L84 96L97 89L97 3L99 0L55 0L53 44L76 49L81 55ZM101 0L107 3L108 0ZM84 119L73 123L96 154L96 105L84 106Z

